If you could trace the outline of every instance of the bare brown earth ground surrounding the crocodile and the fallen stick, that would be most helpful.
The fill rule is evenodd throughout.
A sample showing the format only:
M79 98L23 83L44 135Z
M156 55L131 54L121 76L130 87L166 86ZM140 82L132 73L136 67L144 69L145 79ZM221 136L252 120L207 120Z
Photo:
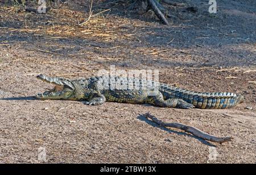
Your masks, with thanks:
M47 14L0 3L0 163L42 163L40 147L46 163L256 163L255 0L217 1L217 14L209 14L208 1L177 1L185 7L168 6L177 16L168 19L170 26L150 11L127 11L124 2L93 1L93 14L111 11L83 27L77 24L88 17L90 3L71 2ZM189 6L198 11L185 10ZM159 70L160 82L242 93L245 102L185 110L33 97L52 87L38 74L75 79L110 65ZM206 142L160 127L146 112L234 139ZM214 148L217 157L209 160Z

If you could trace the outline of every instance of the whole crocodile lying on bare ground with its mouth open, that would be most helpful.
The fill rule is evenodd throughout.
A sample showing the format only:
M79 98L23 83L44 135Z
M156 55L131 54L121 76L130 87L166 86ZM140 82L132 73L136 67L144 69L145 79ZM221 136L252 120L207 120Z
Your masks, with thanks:
M243 95L236 93L188 91L152 80L121 76L114 76L114 78L96 76L69 80L40 74L36 78L55 85L49 91L38 93L36 98L80 100L86 105L100 105L104 104L105 101L112 101L151 104L167 108L227 109L242 103L244 100ZM145 83L151 83L153 86L143 86ZM117 86L117 84L121 86Z

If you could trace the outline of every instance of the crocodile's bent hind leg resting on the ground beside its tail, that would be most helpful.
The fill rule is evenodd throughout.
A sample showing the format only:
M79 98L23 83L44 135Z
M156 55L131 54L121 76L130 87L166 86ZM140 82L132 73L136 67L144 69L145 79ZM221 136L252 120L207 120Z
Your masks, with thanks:
M157 93L155 96L149 96L147 103L160 106L160 107L166 107L166 108L181 108L181 109L189 109L189 108L195 108L190 103L187 103L184 100L181 99L167 99L164 100L162 93Z

